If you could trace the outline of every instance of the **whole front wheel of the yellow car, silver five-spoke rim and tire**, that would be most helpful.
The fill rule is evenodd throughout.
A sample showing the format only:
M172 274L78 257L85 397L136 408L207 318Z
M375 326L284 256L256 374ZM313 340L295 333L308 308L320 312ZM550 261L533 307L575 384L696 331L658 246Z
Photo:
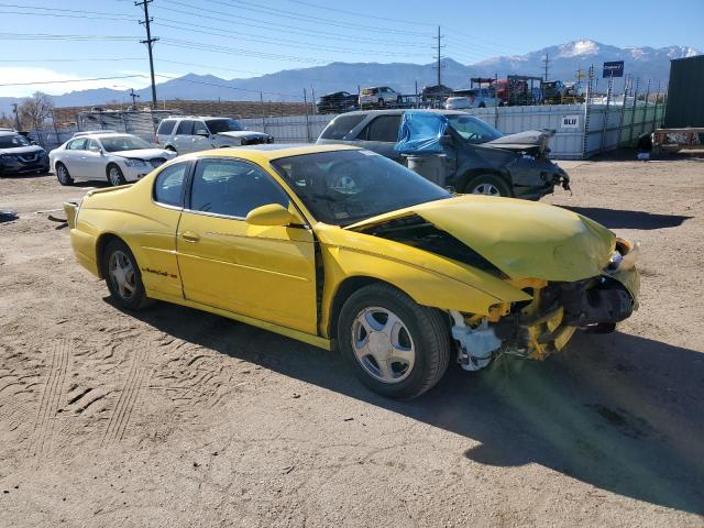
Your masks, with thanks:
M386 397L420 396L448 369L450 332L442 312L385 284L350 296L340 312L338 338L358 378Z

